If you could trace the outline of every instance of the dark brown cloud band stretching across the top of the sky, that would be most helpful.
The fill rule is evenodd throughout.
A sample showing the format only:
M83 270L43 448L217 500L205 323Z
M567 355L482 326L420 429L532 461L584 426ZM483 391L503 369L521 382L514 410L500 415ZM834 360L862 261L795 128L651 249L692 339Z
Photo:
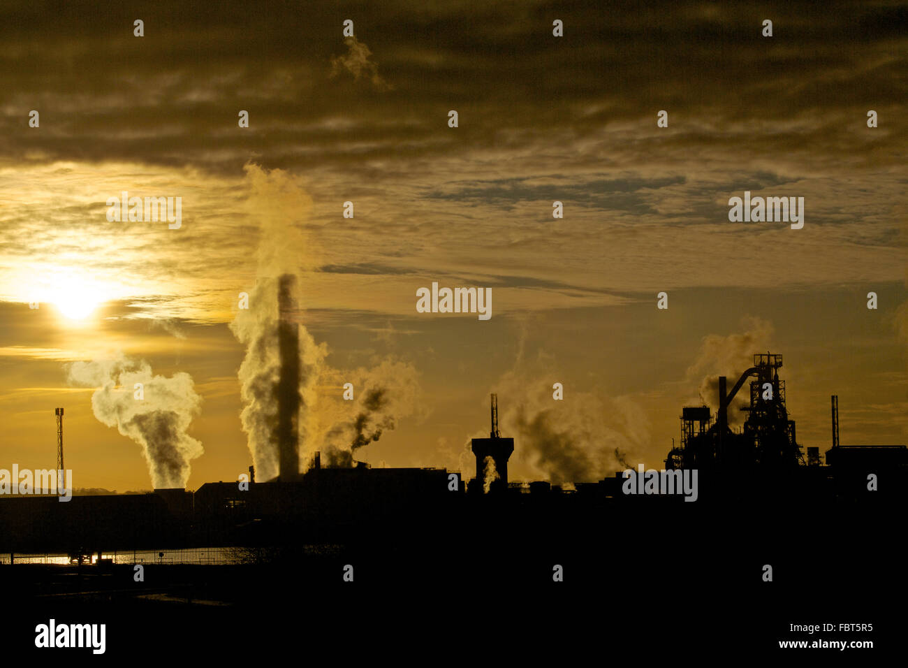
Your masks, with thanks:
M562 38L551 35L553 17L564 21ZM355 22L353 46L341 35L345 18ZM760 35L764 18L772 38ZM750 119L761 134L761 122L824 125L870 105L903 127L895 112L908 20L897 3L8 5L0 21L0 154L11 159L141 156L235 173L255 154L268 166L366 169L513 147L528 133L582 137L663 108L688 124L669 135L673 146L695 120L727 128ZM352 75L332 76L332 62L335 75ZM394 90L379 90L384 79ZM40 131L26 124L33 108ZM461 114L456 140L446 133L450 108ZM240 109L248 130L237 127ZM790 148L799 136L764 141ZM822 148L818 138L803 137Z

